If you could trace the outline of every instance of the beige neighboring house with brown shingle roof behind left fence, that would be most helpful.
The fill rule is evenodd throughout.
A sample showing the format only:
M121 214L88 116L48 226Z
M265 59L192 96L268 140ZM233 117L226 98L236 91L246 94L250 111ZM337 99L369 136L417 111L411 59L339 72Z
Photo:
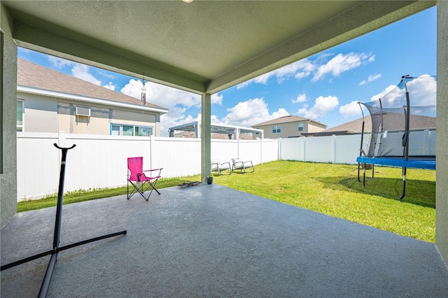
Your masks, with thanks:
M17 131L160 136L166 108L18 59Z

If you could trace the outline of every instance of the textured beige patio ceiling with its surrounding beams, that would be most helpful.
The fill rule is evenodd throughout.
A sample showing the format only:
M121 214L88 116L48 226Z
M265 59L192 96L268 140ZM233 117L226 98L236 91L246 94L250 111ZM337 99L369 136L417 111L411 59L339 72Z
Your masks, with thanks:
M2 1L24 48L213 94L436 1Z

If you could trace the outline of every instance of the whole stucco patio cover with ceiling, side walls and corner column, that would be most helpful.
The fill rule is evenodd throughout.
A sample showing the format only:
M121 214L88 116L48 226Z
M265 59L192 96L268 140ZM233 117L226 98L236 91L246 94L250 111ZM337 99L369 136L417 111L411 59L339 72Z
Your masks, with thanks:
M202 179L211 94L437 6L437 115L448 114L448 1L0 2L1 225L17 210L17 47L202 97ZM424 24L422 24L424 26ZM405 52L406 44L402 45ZM448 260L448 118L437 118L436 243Z

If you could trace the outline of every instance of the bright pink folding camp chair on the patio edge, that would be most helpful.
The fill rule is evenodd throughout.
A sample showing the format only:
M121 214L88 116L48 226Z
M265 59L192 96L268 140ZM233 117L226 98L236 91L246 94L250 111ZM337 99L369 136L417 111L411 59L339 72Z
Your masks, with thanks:
M155 190L155 192L157 192L158 194L160 194L160 192L155 188L155 185L157 183L157 181L159 180L160 173L162 173L162 169L151 169L151 170L141 170L141 173L137 173L137 180L132 180L131 179L131 173L130 173L130 169L129 169L129 160L130 159L136 159L136 158L141 158L141 162L143 165L143 157L129 157L128 158L128 166L127 166L127 199L130 199L132 196L134 196L134 194L141 194L141 197L143 197L146 201L149 200L149 197L151 197L151 194L153 193L153 190ZM148 177L146 176L145 172L151 172L151 173L156 173L156 176L154 177ZM151 175L153 176L153 175ZM132 190L130 191L130 185L132 185ZM151 192L149 192L148 197L145 197L144 192L146 192L146 190L148 190L149 188L151 188Z

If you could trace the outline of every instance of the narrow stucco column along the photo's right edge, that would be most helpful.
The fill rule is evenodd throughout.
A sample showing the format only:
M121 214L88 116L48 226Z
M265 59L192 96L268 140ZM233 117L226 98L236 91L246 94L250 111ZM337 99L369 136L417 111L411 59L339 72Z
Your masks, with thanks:
M448 1L437 2L435 244L448 264Z

